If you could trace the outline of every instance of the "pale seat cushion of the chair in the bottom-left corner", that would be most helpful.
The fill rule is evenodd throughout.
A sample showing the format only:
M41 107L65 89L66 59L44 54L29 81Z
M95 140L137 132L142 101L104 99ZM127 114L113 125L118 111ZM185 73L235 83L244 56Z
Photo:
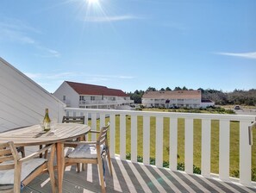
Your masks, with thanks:
M34 171L38 166L45 163L47 159L29 159L28 161L25 161L22 163L22 177L21 181L28 177L28 175ZM12 163L12 161L5 162ZM4 165L4 164L0 164ZM14 169L0 171L0 184L14 184Z

